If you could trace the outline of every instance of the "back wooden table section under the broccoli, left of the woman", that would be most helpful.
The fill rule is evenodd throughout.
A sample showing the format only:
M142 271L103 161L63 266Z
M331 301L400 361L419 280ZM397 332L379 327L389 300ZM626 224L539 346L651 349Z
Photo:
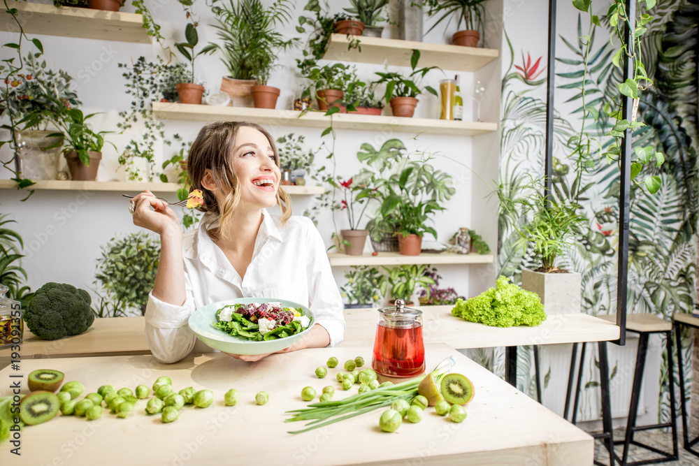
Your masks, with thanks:
M143 317L95 319L87 332L80 335L41 340L29 331L25 322L20 354L25 359L148 354L144 329ZM9 363L10 354L9 348L0 350L0 367Z

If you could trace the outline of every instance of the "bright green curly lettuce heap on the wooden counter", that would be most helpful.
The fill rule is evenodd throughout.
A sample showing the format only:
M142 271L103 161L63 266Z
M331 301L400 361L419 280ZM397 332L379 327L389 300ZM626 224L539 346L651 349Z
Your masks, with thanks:
M510 283L507 277L499 277L494 288L479 296L456 300L452 314L494 327L538 326L546 320L539 296Z

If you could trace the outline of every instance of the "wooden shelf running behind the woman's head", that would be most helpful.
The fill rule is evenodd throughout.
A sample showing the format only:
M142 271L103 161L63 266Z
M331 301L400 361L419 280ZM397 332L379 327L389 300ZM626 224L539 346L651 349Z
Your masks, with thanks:
M16 189L17 183L12 180L0 180L0 189ZM140 192L144 189L157 193L174 193L180 188L176 183L161 182L136 182L136 181L61 181L61 180L40 180L29 189L55 189L59 191L122 191ZM284 190L292 196L315 196L323 194L322 186L285 186Z

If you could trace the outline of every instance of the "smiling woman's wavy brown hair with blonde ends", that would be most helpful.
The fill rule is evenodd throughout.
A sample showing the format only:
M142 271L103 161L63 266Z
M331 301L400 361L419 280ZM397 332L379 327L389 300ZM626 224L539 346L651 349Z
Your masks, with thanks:
M215 239L218 233L228 231L231 215L240 203L240 180L233 171L233 148L236 147L236 136L241 126L257 129L269 141L274 152L275 163L279 166L279 153L272 135L259 124L250 122L215 122L204 126L189 150L187 157L187 173L192 182L192 190L201 189L204 203L201 212L214 212L219 217L219 228L210 231ZM226 193L223 205L218 205L211 191L201 185L206 170L212 172L216 186ZM291 217L291 202L289 194L284 189L277 191L277 203L282 212L282 225Z

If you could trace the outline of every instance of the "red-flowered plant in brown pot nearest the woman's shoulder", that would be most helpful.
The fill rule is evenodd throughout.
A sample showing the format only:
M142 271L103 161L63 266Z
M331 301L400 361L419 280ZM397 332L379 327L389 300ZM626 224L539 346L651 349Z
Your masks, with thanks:
M342 236L341 244L345 246L345 254L361 256L364 252L366 237L369 234L368 230L359 229L361 217L363 217L366 211L368 201L378 195L376 189L371 187L373 177L359 177L355 175L345 181L342 181L340 177L337 180L327 177L326 181L336 189L340 189L343 194L343 199L334 207L347 212L349 229L340 230L340 235ZM359 208L361 208L361 211L357 215L356 209Z

